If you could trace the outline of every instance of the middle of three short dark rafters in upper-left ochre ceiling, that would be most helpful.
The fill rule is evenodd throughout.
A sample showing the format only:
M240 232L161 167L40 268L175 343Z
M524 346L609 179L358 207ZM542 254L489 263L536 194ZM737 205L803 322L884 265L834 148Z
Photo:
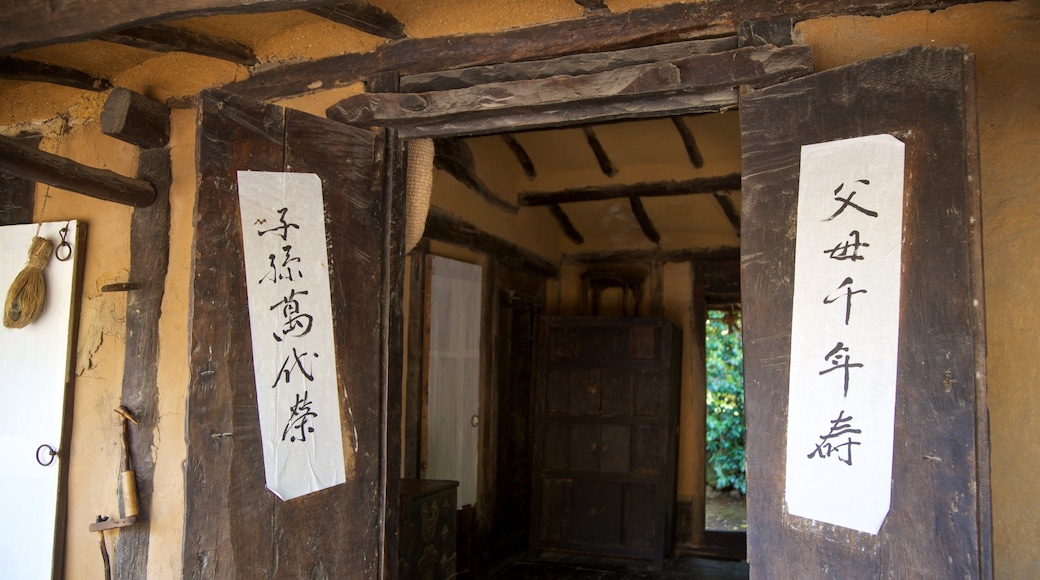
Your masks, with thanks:
M124 28L101 34L98 39L153 52L189 52L246 67L257 62L253 49L237 41L162 24Z

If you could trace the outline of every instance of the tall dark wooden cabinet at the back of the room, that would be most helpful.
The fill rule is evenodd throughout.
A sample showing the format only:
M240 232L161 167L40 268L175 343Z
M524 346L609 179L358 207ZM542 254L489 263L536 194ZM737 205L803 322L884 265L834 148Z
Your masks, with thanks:
M657 318L544 317L531 549L652 559L674 541L681 332Z

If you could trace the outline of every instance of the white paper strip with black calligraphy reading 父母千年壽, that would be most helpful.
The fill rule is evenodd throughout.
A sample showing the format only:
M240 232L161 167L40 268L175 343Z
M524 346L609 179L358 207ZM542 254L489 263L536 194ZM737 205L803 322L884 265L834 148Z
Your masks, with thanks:
M891 501L904 144L802 148L787 511L877 534Z

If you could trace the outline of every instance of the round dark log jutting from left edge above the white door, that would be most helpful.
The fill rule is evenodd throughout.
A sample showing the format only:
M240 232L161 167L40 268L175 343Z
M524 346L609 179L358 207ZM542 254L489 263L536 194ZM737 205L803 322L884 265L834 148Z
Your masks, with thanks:
M155 201L155 187L148 181L89 167L10 137L0 136L0 172L138 208Z

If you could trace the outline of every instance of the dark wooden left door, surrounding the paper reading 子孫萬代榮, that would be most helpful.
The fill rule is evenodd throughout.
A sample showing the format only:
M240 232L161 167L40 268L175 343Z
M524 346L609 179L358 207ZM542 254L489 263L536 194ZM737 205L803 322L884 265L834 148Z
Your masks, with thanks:
M396 566L398 429L384 139L220 93L201 97L185 465L186 578L381 578ZM392 150L388 150L392 151ZM346 482L264 486L236 172L313 173L324 195ZM398 248L399 251L399 248ZM388 271L389 270L389 271ZM388 468L388 466L393 466Z

